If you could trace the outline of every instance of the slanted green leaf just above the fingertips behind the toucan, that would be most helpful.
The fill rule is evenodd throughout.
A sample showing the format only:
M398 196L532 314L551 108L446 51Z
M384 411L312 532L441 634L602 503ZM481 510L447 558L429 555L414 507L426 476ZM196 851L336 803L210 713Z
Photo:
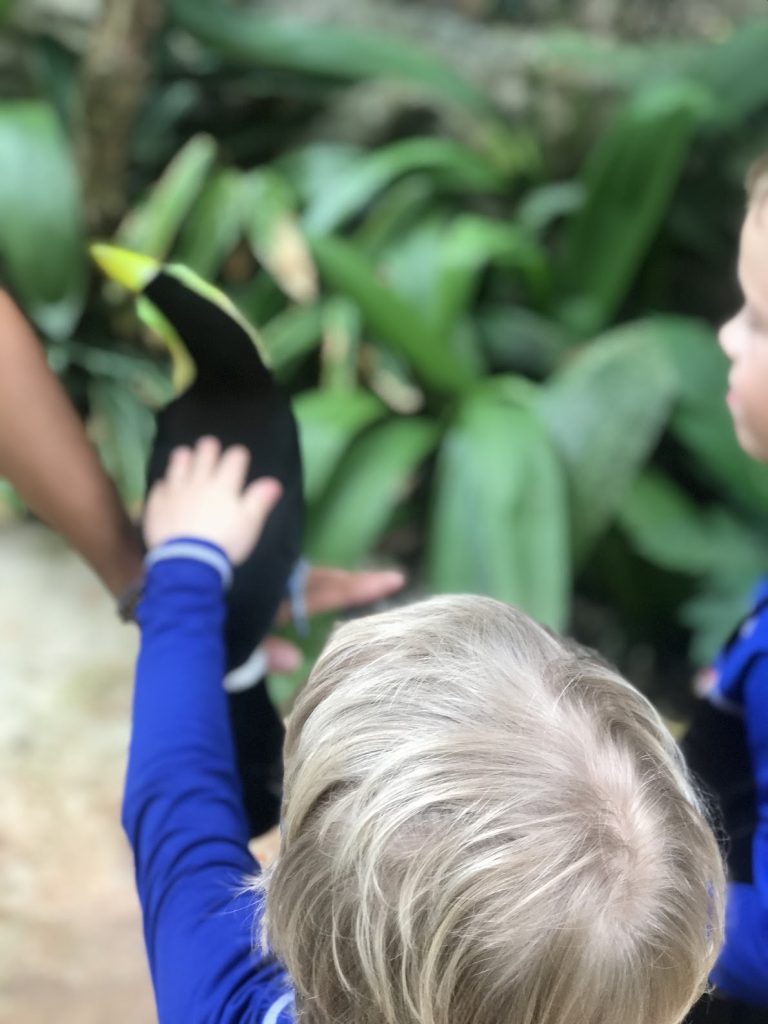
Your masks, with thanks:
M356 565L374 548L438 439L425 419L389 420L352 445L310 519L306 549L329 565Z

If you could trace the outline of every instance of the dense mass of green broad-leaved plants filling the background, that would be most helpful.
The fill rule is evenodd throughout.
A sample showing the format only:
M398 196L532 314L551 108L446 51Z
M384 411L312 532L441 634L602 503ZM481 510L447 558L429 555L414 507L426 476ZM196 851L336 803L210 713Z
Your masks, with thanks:
M636 676L651 652L682 692L687 639L700 664L768 568L768 475L733 440L711 326L737 301L768 25L643 50L553 33L560 70L603 61L611 100L551 153L411 43L168 7L116 233L261 327L300 421L307 554L518 602ZM87 266L78 61L25 44L2 269L135 506L167 369ZM314 137L361 78L417 113L373 146Z

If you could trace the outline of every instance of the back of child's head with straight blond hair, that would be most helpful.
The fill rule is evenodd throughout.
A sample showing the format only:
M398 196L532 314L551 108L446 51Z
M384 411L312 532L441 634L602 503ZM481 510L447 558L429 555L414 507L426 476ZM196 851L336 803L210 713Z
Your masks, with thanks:
M480 597L343 626L294 710L266 928L310 1024L673 1024L723 871L658 715Z

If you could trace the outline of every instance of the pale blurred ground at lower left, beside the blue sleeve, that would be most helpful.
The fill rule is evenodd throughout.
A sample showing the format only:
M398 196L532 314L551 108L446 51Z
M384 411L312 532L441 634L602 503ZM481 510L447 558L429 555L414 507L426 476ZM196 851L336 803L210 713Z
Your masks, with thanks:
M119 823L136 631L37 524L0 528L0 1024L151 1024Z

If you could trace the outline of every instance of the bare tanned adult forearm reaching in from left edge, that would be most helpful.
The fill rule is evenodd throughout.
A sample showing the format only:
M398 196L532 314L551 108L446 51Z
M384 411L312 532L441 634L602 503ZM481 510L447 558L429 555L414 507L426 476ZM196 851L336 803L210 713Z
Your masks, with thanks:
M116 596L141 544L42 345L0 289L0 476L91 564Z

